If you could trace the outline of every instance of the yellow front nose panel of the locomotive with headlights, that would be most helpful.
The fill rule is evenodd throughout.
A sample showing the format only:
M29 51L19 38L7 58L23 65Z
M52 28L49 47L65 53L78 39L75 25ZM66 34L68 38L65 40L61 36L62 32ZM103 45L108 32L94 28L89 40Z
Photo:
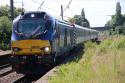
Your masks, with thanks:
M14 55L44 55L51 54L51 46L48 40L21 40L12 42Z

